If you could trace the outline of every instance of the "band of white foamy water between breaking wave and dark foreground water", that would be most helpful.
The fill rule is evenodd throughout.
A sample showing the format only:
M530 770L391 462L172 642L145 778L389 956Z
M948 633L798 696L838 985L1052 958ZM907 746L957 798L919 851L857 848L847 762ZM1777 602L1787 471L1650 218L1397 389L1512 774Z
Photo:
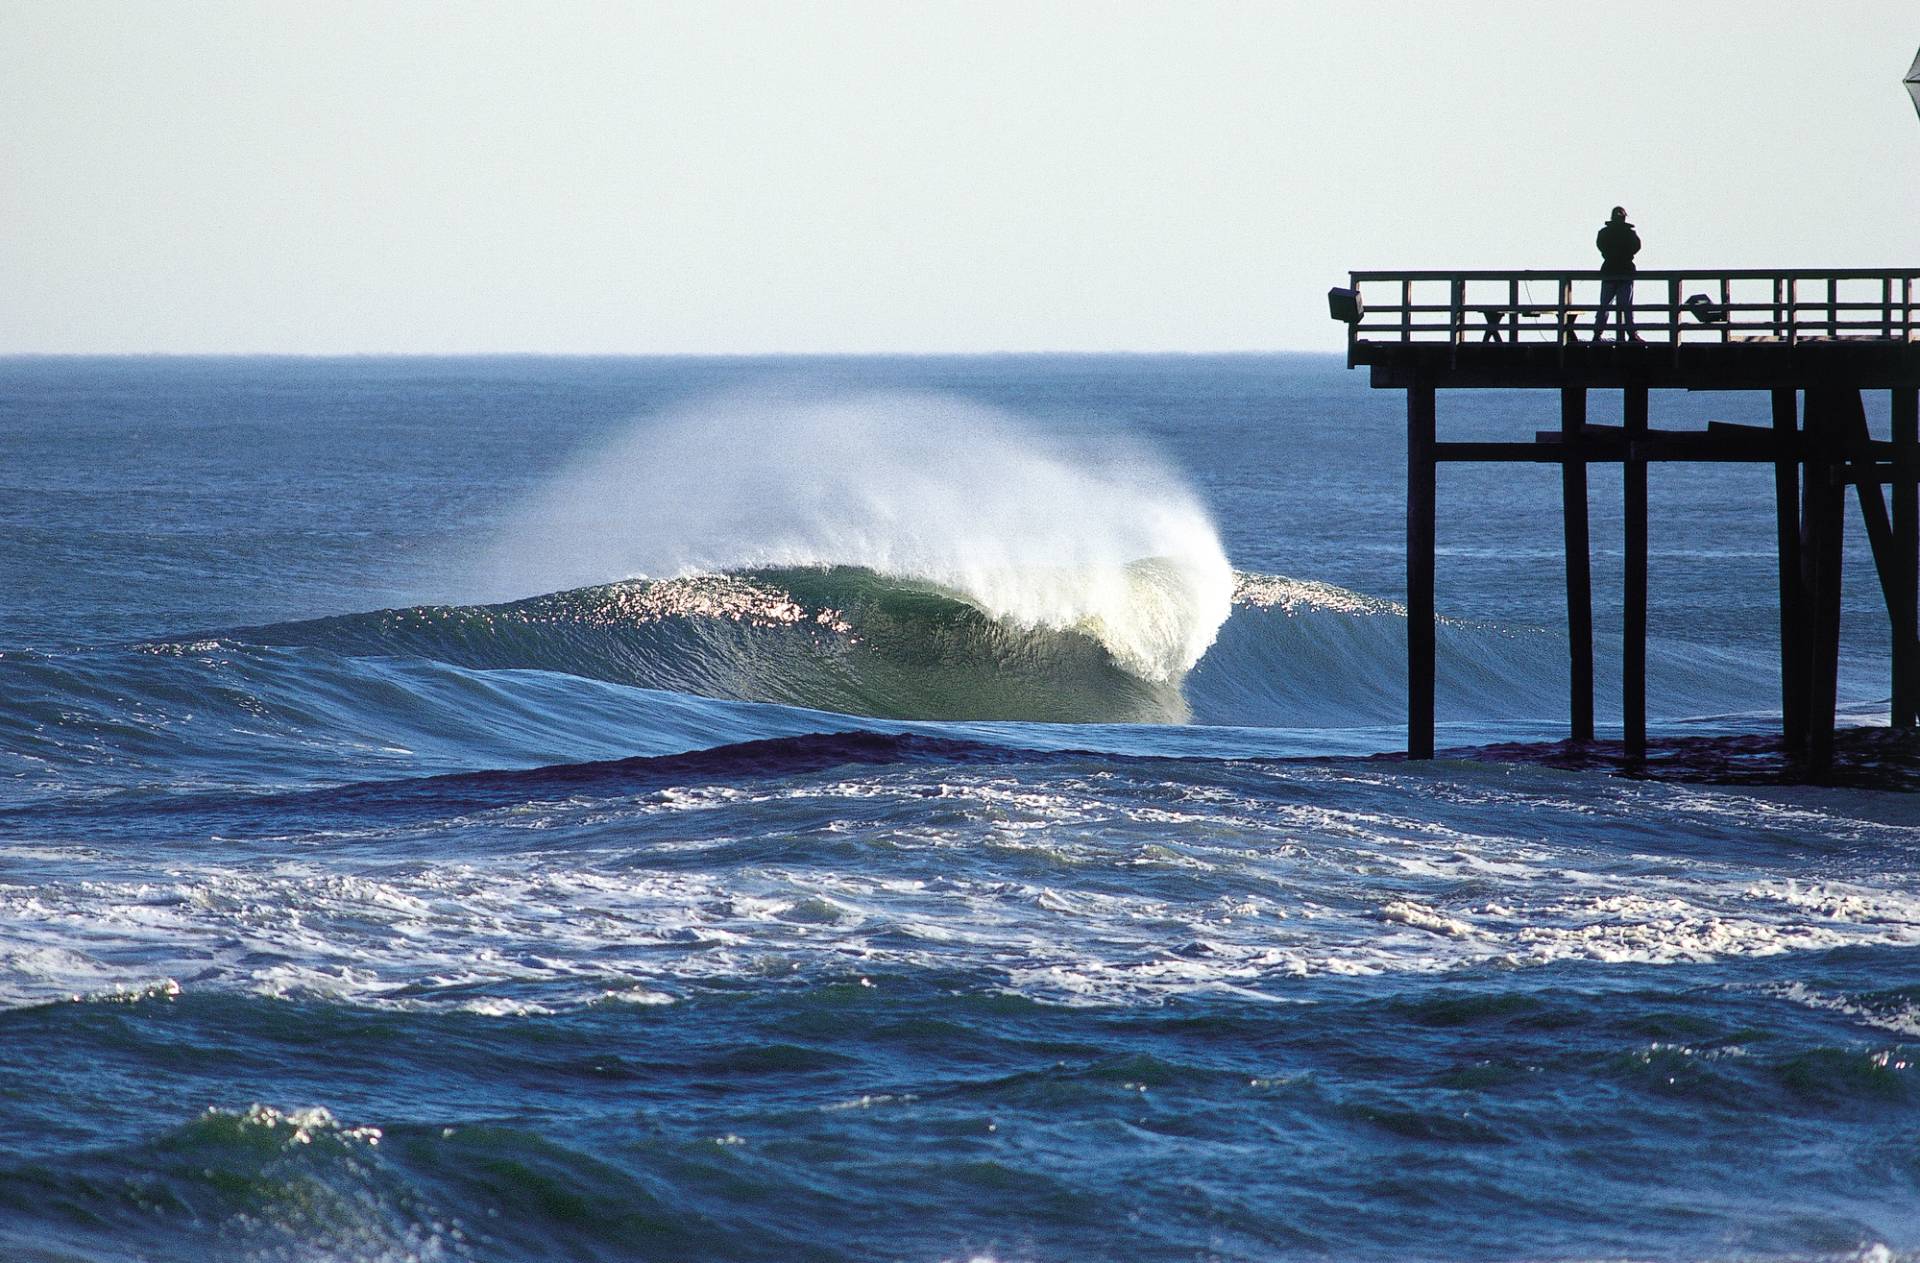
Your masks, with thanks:
M1442 823L1405 810L1405 775L1064 762L609 783L611 797L572 785L465 810L476 845L463 858L420 854L394 827L353 843L353 873L259 839L232 843L244 864L146 875L21 864L25 881L0 885L0 942L13 944L0 1008L184 989L515 1017L672 1004L749 973L925 969L1058 1004L1154 1004L1284 998L1315 975L1920 944L1914 891L1878 871L1885 848L1868 866L1795 852L1820 856L1795 881L1755 868L1753 848L1676 866L1645 854L1642 833L1680 827L1699 791L1601 781L1553 802L1505 770L1457 768L1417 795L1446 804ZM1716 797L1757 837L1770 804ZM900 802L937 806L908 822ZM1526 831L1484 827L1517 802ZM662 814L678 816L643 829ZM1912 1021L1908 992L1862 1004L1870 1025Z

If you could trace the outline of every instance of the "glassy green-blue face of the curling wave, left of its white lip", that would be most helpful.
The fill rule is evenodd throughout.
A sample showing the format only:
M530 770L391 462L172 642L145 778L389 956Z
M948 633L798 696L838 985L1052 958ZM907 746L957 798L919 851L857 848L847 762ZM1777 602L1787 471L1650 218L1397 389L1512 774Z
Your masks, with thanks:
M831 566L346 614L242 639L877 718L1187 722L1179 679L1129 672L1098 632L1020 626L931 584Z

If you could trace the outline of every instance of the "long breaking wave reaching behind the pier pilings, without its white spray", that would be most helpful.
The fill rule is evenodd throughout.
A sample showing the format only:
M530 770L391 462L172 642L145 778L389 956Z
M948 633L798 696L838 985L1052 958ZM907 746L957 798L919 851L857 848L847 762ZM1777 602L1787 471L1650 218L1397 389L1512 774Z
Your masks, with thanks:
M1177 584L1139 589L1148 607L1183 595ZM1156 622L1154 610L1140 622ZM628 580L240 635L885 720L1363 727L1404 714L1405 610L1390 601L1238 574L1212 647L1190 670L1164 676L1142 666L1125 632L1098 620L1021 624L937 584L831 566ZM1438 653L1444 720L1565 718L1567 645L1557 632L1446 618ZM1770 697L1741 664L1697 649L1655 645L1653 674L1668 714L1764 706ZM1599 703L1605 716L1611 701Z

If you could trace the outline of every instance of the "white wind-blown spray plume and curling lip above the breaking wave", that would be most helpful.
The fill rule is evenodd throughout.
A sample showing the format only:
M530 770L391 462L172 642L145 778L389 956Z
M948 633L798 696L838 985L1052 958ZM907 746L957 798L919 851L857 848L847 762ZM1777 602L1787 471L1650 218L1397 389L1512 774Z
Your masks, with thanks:
M860 566L1177 679L1231 612L1213 522L1164 461L937 395L732 397L637 422L515 522L518 593L622 578Z

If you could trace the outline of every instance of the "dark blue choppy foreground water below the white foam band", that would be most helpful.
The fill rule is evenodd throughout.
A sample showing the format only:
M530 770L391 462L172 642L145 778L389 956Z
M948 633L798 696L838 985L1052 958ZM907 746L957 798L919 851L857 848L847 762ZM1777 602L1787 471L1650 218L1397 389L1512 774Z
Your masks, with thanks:
M1344 1253L1436 1257L1438 1240L1448 1257L1511 1259L1551 1240L1557 1257L1617 1257L1655 1215L1668 1248L1649 1257L1893 1257L1866 1246L1910 1230L1908 1056L1768 985L1778 967L1676 965L1661 989L1603 967L1400 977L1357 996L1350 979L1309 981L1283 1006L1104 1012L897 973L643 1021L207 994L44 1006L8 1035L52 1046L56 1065L81 1054L54 1037L86 1029L119 1056L171 1050L190 1096L230 1104L142 1106L136 1134L102 1117L58 1146L29 1138L0 1159L0 1253L952 1259L1018 1232L1014 1257L1173 1259L1219 1255L1227 1223L1227 1257L1325 1257L1361 1232ZM276 1086L332 1109L248 1104L225 1058L179 1054L286 1056L317 1037L359 1056L294 1061ZM361 1052L371 1038L382 1056ZM409 1096L424 1065L434 1090ZM384 1083L388 1067L411 1075ZM1596 1138L1601 1111L1613 1129ZM1144 1136L1129 1171L1087 1159L1089 1136L1114 1134ZM1279 1209L1248 1209L1250 1180L1294 1161ZM1718 1207L1741 1163L1814 1194L1772 1217L1676 1205ZM1580 1180L1544 1196L1565 1169ZM1649 1169L1667 1190L1651 1211L1636 1196ZM1116 1196L1140 1213L1114 1215Z

